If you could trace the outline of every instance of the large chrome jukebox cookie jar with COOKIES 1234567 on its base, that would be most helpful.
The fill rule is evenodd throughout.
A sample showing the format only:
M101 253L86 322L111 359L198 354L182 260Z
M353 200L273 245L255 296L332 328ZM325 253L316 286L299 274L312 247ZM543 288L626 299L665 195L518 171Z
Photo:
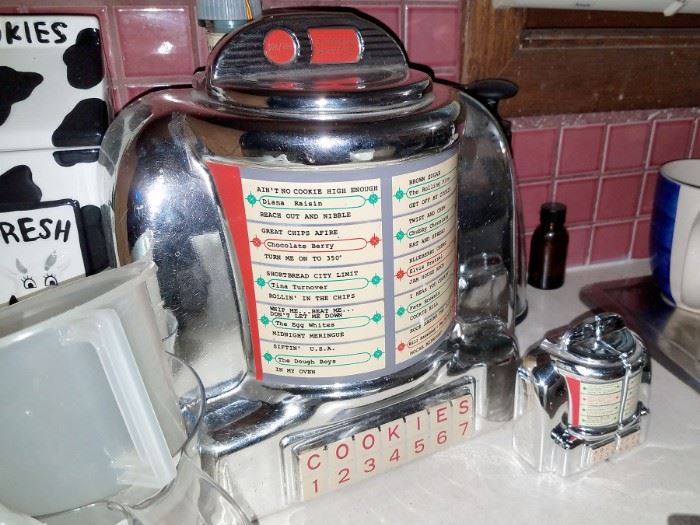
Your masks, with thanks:
M115 256L152 257L209 472L251 516L512 414L514 198L495 120L349 12L269 15L104 142Z

